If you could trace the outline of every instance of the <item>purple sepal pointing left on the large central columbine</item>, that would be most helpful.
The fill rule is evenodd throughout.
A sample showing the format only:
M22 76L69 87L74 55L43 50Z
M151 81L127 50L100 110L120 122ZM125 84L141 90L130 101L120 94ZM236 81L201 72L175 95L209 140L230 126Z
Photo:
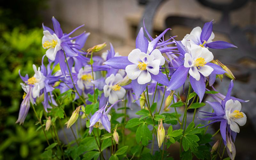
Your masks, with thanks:
M128 60L128 57L121 56L121 57L113 57L103 64L106 64L110 67L113 67L115 69L125 69L126 66L133 64Z

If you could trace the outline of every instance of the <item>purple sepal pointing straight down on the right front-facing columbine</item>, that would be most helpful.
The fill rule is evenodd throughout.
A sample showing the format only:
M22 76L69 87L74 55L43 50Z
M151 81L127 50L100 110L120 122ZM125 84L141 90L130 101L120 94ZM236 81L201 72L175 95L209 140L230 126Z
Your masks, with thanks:
M192 76L189 76L189 81L193 90L196 92L196 94L199 97L199 103L201 103L204 97L204 92L205 92L204 76L201 75L199 81L197 81Z

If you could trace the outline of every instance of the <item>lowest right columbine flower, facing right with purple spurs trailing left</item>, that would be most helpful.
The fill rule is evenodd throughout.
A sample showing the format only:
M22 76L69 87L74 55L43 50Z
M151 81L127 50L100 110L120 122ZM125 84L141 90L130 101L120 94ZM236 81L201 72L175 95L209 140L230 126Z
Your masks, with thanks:
M206 101L208 104L212 106L214 113L203 112L206 113L203 116L210 117L199 118L206 121L212 120L212 122L207 125L210 125L215 122L220 122L220 133L225 145L227 144L227 128L228 132L230 132L231 135L236 135L236 133L240 132L238 124L240 126L243 126L246 123L246 115L243 112L241 112L241 103L238 100L234 101L231 99L230 94L232 88L233 80L231 80L231 83L228 88L228 93L225 99L221 101L221 103ZM235 139L235 137L236 136L234 136L233 139Z

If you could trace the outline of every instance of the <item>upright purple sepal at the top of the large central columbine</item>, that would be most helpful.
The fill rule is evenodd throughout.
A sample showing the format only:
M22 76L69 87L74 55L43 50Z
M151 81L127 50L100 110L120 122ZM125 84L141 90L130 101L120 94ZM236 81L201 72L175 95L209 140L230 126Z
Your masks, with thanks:
M143 28L140 28L140 32L136 38L136 48L140 49L141 52L147 53L148 51L148 40L144 36Z

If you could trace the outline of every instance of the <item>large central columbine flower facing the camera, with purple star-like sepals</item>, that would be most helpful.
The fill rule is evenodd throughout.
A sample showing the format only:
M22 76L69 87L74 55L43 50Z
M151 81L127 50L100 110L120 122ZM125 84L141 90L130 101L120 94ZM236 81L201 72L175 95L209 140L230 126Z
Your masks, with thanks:
M168 85L168 78L162 72L159 72L159 66L165 62L161 53L169 50L166 49L161 52L160 49L162 50L162 48L158 50L156 47L158 41L169 29L166 29L155 39L150 36L151 42L148 42L144 36L143 28L141 28L136 38L136 49L132 50L128 57L113 57L104 62L104 64L115 69L125 69L128 77L132 79L132 89L137 100L151 78L160 84ZM163 45L166 43L167 41L164 41Z

